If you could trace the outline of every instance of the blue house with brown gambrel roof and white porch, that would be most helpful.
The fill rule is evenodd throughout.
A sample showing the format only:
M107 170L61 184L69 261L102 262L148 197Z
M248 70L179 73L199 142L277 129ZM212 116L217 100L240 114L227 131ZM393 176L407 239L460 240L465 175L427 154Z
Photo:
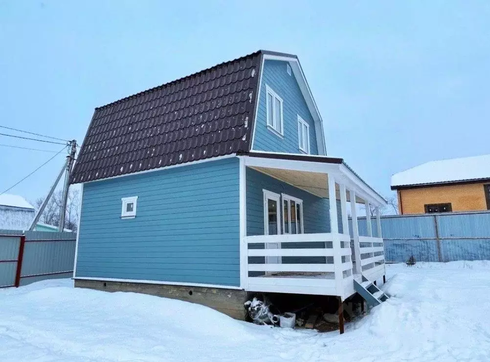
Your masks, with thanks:
M385 200L323 128L298 58L264 50L96 108L71 176L75 287L243 318L249 293L345 300L383 278L379 214L359 236L356 204Z

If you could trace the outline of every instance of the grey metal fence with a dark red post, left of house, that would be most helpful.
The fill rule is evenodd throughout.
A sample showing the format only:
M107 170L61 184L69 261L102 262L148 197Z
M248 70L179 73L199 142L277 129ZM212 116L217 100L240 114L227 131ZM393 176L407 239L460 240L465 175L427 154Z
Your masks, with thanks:
M71 278L76 234L0 230L0 288Z

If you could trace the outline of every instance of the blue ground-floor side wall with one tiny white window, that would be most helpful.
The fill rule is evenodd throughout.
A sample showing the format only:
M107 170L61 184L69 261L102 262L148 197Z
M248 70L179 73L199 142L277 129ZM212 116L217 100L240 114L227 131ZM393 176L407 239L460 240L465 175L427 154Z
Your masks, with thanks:
M237 158L86 183L76 276L239 286L239 222Z

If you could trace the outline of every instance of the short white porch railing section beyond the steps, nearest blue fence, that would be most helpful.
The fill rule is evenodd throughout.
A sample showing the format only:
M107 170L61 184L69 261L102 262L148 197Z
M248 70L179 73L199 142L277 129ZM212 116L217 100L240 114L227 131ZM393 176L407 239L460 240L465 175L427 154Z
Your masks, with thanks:
M385 273L385 255L382 238L359 236L361 270L369 280L376 280Z

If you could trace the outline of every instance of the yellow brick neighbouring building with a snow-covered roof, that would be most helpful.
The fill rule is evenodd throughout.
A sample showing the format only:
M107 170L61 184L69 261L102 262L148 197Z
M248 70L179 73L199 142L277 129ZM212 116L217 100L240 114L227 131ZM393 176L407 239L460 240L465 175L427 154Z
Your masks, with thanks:
M400 214L490 209L490 155L432 161L392 176Z

